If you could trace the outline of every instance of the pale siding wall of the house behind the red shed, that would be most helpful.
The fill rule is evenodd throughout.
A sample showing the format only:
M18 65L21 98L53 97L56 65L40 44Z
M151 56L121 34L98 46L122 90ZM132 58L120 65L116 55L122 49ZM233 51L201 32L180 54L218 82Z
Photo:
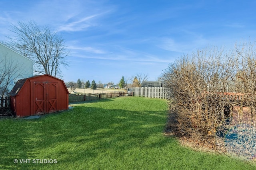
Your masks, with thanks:
M15 68L15 71L12 73L12 81L8 85L9 91L12 90L18 80L33 76L32 60L0 43L0 74L4 72L6 66Z

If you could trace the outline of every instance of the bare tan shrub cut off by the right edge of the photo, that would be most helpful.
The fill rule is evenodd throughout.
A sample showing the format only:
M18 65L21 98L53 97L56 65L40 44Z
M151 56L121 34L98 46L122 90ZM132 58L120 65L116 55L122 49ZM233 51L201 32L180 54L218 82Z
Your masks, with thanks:
M240 100L233 102L238 114L232 115L233 132L236 132L236 145L229 148L238 154L256 154L256 48L255 44L236 45L233 53L236 60L236 74L232 74L234 88L241 94ZM234 149L235 148L235 149ZM238 148L238 149L236 149Z

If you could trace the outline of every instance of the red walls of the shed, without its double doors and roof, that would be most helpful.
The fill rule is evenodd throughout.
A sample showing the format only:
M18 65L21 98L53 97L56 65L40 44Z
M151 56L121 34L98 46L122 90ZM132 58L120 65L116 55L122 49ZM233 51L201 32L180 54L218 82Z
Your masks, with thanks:
M32 83L31 83L32 82ZM54 78L49 75L35 76L28 78L20 92L16 96L12 96L12 109L17 117L34 115L33 105L33 82L58 82L58 101L57 111L68 109L68 90L64 82L60 79Z

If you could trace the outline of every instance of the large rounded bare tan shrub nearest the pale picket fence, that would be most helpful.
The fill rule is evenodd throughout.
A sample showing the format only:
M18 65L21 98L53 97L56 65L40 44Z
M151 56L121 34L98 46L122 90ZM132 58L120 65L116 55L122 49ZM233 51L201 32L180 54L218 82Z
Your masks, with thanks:
M232 81L232 69L234 65L218 48L203 49L169 64L162 77L172 93L182 134L204 138L215 135L229 106L222 99Z

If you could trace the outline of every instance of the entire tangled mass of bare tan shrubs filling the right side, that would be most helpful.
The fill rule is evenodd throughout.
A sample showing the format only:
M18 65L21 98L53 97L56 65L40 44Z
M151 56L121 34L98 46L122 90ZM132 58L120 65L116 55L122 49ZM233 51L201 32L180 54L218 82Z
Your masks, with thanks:
M230 51L212 47L183 55L169 64L162 78L170 92L180 134L209 139L236 127L239 143L256 150L252 149L256 136L253 44L242 43Z

